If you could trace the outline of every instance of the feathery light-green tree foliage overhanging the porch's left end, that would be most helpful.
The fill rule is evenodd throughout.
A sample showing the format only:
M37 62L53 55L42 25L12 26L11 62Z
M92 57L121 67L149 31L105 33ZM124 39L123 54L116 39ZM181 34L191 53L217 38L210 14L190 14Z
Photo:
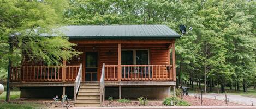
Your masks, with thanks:
M55 28L61 25L67 1L16 1L0 0L0 69L7 70L8 59L20 65L22 56L32 63L44 62L58 65L62 60L77 56L65 37L41 37L61 33ZM11 39L11 40L10 40ZM10 49L10 45L13 50Z

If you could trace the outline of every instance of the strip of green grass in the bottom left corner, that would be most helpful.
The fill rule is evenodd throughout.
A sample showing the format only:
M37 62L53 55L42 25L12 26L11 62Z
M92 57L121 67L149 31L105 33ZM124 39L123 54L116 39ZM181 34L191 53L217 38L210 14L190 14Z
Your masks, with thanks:
M39 104L13 104L13 103L0 103L0 109L33 109L42 108Z

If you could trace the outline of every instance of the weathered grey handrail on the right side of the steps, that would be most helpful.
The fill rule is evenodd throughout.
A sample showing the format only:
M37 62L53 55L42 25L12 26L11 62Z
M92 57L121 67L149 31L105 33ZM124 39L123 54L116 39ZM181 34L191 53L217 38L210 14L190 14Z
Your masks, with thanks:
M102 65L102 75L100 76L100 105L103 106L105 101L105 63Z

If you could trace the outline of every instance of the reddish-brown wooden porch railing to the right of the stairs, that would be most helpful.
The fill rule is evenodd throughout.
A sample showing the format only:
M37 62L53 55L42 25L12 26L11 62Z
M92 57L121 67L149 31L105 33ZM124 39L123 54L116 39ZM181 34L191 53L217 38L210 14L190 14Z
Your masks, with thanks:
M118 65L105 65L105 80L118 80ZM173 80L172 65L121 65L121 80Z

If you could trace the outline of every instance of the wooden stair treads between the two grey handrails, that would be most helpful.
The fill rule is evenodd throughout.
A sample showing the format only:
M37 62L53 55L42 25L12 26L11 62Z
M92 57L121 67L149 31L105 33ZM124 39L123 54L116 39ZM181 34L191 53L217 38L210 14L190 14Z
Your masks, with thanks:
M75 100L75 107L96 106L100 106L99 82L81 82L78 95Z

